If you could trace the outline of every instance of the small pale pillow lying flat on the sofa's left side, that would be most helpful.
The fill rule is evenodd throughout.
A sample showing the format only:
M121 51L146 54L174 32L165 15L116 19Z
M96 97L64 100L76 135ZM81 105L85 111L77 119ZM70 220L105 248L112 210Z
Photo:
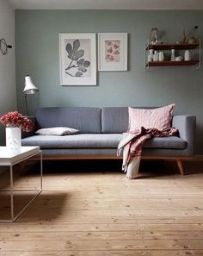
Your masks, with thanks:
M53 127L53 128L41 128L36 131L36 134L39 135L57 135L57 136L63 136L63 135L71 135L71 134L78 134L79 131L74 128L68 128L68 127Z

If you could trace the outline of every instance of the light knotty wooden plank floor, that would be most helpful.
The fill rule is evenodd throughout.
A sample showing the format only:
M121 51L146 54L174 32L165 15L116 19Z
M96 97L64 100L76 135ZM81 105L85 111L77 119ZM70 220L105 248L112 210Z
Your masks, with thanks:
M203 172L163 174L150 164L127 180L119 165L105 165L46 165L40 197L15 223L0 223L0 255L203 255ZM15 188L36 187L37 167L16 170ZM4 173L0 184L8 184ZM15 209L29 196L17 194ZM7 199L0 197L1 218Z

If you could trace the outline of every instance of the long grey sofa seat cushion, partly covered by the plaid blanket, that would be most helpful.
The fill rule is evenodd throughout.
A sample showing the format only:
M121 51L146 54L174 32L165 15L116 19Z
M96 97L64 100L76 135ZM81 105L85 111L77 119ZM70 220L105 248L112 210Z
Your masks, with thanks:
M76 134L68 136L34 135L22 139L22 146L43 148L117 148L122 134ZM171 136L152 138L145 142L145 148L185 149L186 141Z

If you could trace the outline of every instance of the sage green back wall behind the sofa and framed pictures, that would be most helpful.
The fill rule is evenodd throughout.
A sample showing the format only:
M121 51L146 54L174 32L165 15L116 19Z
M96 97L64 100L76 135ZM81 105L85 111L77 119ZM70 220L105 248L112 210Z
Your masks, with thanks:
M145 72L145 42L152 27L161 41L181 40L195 25L202 35L203 11L188 10L16 10L15 48L18 109L25 112L22 90L29 74L40 93L38 106L161 106L197 116L196 153L203 153L203 70L157 67ZM59 33L128 33L128 72L98 72L97 86L60 86Z

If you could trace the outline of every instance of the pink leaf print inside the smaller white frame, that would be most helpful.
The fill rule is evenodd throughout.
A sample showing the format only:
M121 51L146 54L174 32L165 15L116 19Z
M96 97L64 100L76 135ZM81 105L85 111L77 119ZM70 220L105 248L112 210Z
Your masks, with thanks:
M105 41L105 60L120 62L120 41Z

